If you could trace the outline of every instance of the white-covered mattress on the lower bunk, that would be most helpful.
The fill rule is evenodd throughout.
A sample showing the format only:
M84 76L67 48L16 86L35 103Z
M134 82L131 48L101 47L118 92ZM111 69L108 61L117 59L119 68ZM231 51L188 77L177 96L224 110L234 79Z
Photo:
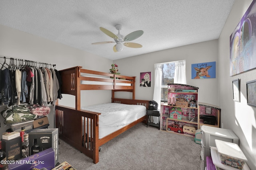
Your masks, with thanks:
M101 113L99 139L146 115L146 107L142 105L107 103L81 107L81 109Z

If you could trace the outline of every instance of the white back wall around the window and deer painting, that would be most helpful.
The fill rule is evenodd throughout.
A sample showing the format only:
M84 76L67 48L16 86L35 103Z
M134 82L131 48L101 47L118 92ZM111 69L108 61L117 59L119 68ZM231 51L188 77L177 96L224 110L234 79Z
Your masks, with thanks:
M198 101L218 106L218 76L216 78L192 79L191 64L216 61L218 75L218 40L186 45L144 55L113 61L123 75L136 76L136 99L152 100L154 92L154 64L186 60L187 84L196 86ZM151 87L140 87L140 72L151 72ZM123 97L120 95L120 97Z

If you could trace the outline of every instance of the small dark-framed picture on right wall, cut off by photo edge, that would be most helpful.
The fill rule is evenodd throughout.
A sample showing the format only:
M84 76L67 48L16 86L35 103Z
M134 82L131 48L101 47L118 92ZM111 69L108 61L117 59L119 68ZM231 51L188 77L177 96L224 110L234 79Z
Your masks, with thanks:
M256 80L246 82L247 104L256 107Z

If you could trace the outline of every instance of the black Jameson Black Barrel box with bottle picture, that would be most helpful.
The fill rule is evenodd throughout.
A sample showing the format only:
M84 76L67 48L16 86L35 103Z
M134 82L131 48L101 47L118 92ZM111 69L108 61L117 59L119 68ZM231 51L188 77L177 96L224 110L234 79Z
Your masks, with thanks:
M35 129L28 133L28 139L29 155L52 148L55 162L58 162L58 129Z

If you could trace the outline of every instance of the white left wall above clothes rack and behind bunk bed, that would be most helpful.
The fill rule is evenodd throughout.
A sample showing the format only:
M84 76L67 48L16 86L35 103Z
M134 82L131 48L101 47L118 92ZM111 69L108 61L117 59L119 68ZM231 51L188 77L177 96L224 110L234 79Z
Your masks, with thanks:
M55 43L41 37L37 37L10 27L0 25L0 56L15 59L24 59L48 64L56 64L57 70L73 66L82 66L89 70L108 72L112 60L98 57L85 51ZM4 59L0 58L0 63ZM6 59L7 63L10 60ZM100 62L99 62L100 61ZM39 65L38 65L39 66ZM66 82L63 82L66 83ZM75 107L75 98L71 95L63 95L59 104ZM72 100L70 100L72 99ZM111 90L88 90L82 92L81 106L111 102ZM3 107L0 107L0 111ZM53 107L51 107L53 108ZM50 127L54 126L54 110L49 114ZM9 125L4 125L4 119L0 116L0 134Z

